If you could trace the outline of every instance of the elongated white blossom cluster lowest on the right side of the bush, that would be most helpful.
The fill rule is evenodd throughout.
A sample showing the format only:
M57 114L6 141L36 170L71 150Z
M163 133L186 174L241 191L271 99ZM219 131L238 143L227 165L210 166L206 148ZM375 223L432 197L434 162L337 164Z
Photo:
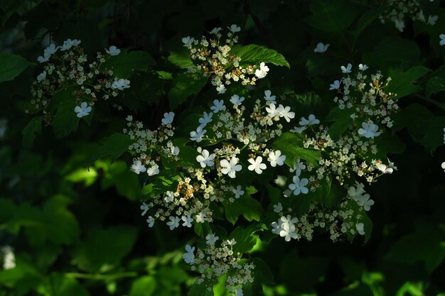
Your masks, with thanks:
M319 231L329 232L333 242L346 235L365 235L363 214L370 210L374 201L365 193L362 183L350 186L343 201L335 207L324 207L316 200L311 201L309 211L299 217L292 215L292 209L283 209L282 204L274 205L274 212L279 219L272 223L272 233L291 239L311 241L313 234Z

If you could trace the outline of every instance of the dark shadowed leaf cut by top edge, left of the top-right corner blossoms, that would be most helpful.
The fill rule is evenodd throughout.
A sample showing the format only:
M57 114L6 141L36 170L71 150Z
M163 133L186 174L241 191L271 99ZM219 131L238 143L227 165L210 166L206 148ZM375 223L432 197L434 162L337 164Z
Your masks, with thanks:
M313 0L309 6L313 16L306 22L313 28L332 33L343 33L358 15L358 9L350 1Z

